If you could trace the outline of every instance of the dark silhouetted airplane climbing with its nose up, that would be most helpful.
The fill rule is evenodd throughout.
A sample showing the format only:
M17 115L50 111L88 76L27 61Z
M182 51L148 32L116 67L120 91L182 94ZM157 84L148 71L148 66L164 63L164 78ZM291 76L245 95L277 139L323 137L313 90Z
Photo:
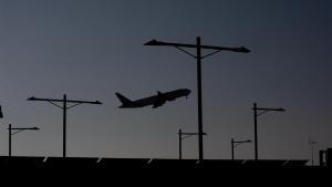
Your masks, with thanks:
M153 105L153 108L157 108L159 106L163 106L167 101L175 101L178 97L186 96L188 98L188 95L191 93L188 89L180 89L172 92L157 92L157 95L149 96L146 98L137 100L137 101L131 101L129 98L123 96L121 93L116 92L115 95L121 101L122 105L118 106L118 108L137 108L137 107L145 107L148 105Z

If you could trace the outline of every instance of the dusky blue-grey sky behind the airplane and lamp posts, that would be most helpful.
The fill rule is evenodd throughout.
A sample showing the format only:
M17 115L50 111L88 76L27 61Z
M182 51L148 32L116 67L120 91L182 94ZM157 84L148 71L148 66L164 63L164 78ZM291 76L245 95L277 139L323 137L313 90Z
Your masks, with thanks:
M332 147L330 0L0 0L0 155L8 124L39 126L14 136L13 155L61 156L62 113L38 97L100 100L69 112L68 155L178 156L178 128L197 131L196 63L152 39L239 46L203 62L205 157L230 158L230 138L253 138L252 103L284 107L259 118L260 158L310 159ZM205 51L205 53L207 53ZM190 89L152 110L117 110L129 98ZM184 157L197 158L197 137ZM253 158L241 145L237 158Z

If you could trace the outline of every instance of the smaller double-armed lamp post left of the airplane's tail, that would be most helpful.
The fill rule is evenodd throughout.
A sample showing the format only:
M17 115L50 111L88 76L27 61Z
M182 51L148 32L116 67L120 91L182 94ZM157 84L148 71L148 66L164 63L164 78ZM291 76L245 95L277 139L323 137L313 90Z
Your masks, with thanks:
M95 102L89 102L89 101L74 101L74 100L68 100L66 94L63 95L62 100L54 100L54 98L37 98L34 96L28 98L28 101L41 101L41 102L49 102L52 105L59 107L63 112L63 154L62 157L66 157L66 111L75 107L81 104L102 104L100 101ZM62 106L56 104L56 103L62 103ZM68 106L68 104L72 104L71 106Z

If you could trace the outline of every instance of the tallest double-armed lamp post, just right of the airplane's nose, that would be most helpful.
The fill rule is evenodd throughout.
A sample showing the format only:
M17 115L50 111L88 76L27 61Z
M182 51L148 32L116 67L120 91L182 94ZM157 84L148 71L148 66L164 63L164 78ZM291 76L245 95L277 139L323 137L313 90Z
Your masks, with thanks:
M157 40L152 40L145 45L151 46L173 46L186 54L190 55L191 58L197 60L197 98L198 98L198 155L199 162L203 163L204 160L204 150L203 150L203 101L201 101L201 60L214 55L221 51L231 51L231 52L241 52L248 53L250 52L247 48L224 48L224 46L211 46L211 45L201 45L200 37L197 37L196 44L187 44L187 43L169 43L169 42L162 42ZM191 54L190 52L186 51L185 49L196 49L196 54ZM212 50L212 52L203 55L201 50Z

